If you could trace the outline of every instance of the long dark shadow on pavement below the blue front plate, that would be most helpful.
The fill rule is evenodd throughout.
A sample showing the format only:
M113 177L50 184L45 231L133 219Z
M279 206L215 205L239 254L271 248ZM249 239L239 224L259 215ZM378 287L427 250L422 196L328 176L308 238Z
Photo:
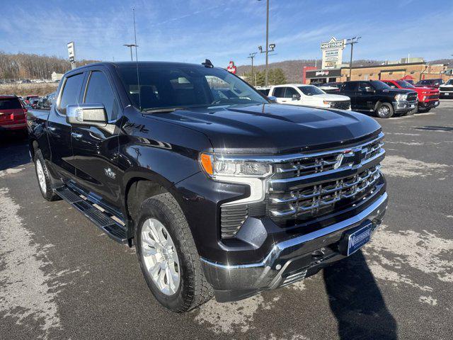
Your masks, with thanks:
M398 339L396 321L362 251L324 268L323 276L340 339Z

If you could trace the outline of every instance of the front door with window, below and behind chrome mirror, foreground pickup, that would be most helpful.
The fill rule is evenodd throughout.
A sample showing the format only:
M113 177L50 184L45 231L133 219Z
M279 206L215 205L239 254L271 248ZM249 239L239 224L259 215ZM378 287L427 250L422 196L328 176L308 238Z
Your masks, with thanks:
M82 102L103 104L108 123L105 126L73 125L72 149L76 184L103 208L116 209L120 207L120 173L117 166L119 97L108 70L90 70L84 84Z

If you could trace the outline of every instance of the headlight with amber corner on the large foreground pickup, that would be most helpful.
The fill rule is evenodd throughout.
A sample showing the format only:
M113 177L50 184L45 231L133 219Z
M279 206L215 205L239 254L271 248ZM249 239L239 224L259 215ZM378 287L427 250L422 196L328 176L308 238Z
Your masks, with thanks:
M200 164L206 174L217 176L265 178L272 173L271 166L261 162L242 162L218 157L216 154L200 154Z

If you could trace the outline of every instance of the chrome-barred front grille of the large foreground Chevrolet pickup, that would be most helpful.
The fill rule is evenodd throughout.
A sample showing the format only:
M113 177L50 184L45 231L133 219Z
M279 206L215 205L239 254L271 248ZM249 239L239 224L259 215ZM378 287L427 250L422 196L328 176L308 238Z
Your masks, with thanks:
M348 208L372 196L381 176L384 135L362 145L306 154L275 164L269 181L268 216L279 225Z

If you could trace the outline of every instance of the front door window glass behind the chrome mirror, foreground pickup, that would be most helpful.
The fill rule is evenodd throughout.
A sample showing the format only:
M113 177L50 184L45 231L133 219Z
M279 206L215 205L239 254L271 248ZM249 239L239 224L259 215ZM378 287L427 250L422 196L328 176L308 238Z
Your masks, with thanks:
M91 72L84 102L88 104L103 104L108 120L115 120L118 117L118 107L112 87L102 72Z

